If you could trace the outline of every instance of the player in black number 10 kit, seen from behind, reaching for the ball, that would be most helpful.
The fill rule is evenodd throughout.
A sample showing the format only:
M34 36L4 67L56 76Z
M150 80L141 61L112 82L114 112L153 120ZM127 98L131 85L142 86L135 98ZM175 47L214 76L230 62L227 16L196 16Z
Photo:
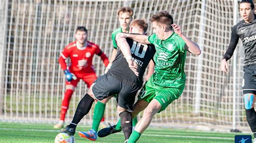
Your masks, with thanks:
M145 34L147 26L147 23L142 19L133 20L129 33ZM127 42L123 42L126 40ZM60 130L60 132L65 132L69 135L75 134L77 124L90 111L95 99L101 101L118 94L117 110L121 119L122 129L125 139L130 137L132 132L132 116L130 112L133 111L132 106L137 91L142 88L143 75L149 62L153 60L156 49L151 44L140 44L128 38L119 38L117 45L117 56L111 68L92 84L87 94L80 100L70 125ZM79 132L79 135L83 136L83 133Z

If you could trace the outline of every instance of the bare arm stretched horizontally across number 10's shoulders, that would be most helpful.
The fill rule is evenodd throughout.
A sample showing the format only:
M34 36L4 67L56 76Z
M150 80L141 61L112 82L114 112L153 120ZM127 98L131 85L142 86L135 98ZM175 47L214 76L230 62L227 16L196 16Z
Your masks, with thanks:
M146 35L118 33L116 36L116 39L119 39L119 38L130 38L134 41L140 42L141 44L150 44L149 40L147 40Z

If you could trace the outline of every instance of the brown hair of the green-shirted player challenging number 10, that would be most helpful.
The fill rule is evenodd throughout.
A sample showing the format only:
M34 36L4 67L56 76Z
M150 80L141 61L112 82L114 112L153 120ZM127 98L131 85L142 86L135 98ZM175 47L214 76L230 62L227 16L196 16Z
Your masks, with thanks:
M167 28L172 28L173 18L167 11L160 11L150 18L150 22L165 24Z

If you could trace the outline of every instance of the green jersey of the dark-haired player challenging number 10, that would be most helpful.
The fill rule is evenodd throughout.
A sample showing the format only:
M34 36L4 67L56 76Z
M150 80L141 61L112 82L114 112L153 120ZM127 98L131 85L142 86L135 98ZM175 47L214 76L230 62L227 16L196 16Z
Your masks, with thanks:
M148 37L156 47L154 61L156 66L154 70L153 82L160 87L178 88L185 85L186 75L184 65L186 60L185 41L176 33L160 40L156 34Z

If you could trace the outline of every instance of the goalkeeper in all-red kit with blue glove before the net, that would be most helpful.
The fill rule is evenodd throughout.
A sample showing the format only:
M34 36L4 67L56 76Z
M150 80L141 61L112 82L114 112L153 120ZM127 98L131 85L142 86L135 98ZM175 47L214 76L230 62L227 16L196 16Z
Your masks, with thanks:
M83 26L76 29L76 41L71 42L65 46L59 57L59 64L64 70L66 76L66 90L64 99L62 101L62 108L60 112L60 120L54 128L62 128L64 125L65 115L69 108L69 102L75 90L77 83L82 79L87 87L96 80L97 76L95 69L92 66L92 58L94 54L100 56L104 62L105 67L109 64L106 55L100 50L99 46L87 41L87 30ZM65 60L70 58L70 66L66 66ZM100 118L101 119L101 118Z

